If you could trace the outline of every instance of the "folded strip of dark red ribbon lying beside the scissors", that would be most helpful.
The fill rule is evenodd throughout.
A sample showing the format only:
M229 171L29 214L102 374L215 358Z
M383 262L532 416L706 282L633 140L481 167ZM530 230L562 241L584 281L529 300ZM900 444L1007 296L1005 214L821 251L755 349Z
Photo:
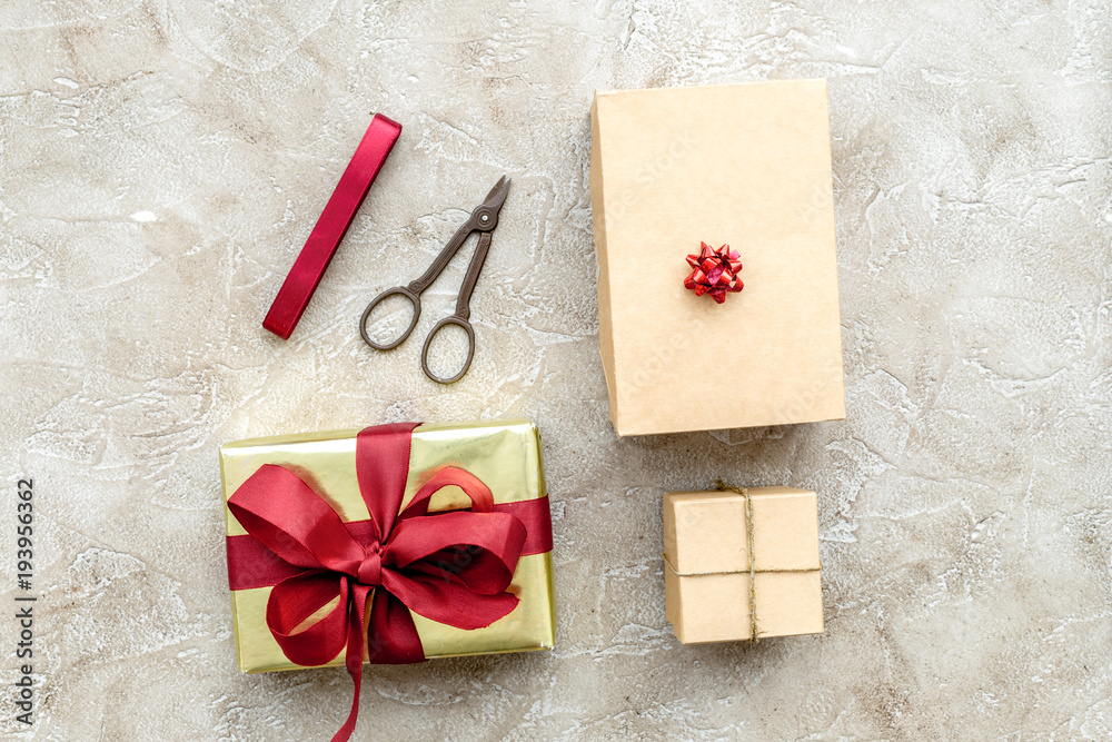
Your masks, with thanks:
M376 113L367 127L367 133L351 156L351 161L336 185L331 198L321 211L317 225L305 241L300 255L294 261L294 267L286 276L286 283L278 290L270 311L267 313L262 326L284 340L297 327L301 314L309 305L312 293L325 275L325 269L336 255L336 248L351 226L355 212L367 197L370 185L383 169L386 157L394 148L394 142L401 135L401 125L391 121L381 113Z

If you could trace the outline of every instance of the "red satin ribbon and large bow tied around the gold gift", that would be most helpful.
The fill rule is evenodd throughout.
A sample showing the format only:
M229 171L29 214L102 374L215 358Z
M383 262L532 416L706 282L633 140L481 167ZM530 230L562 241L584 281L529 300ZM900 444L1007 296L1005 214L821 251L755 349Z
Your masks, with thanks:
M552 548L550 525L547 540L529 533L544 531L547 498L542 498L543 513L539 501L517 508L527 527L506 512L525 503L495 506L490 489L456 467L439 469L399 513L415 427L369 427L356 439L356 475L369 521L345 524L296 474L272 464L228 498L232 515L250 534L228 538L232 590L274 585L267 625L291 662L325 664L347 647L355 700L334 742L355 730L365 637L370 662L421 662L425 653L410 611L457 629L488 626L517 607L518 598L506 588L518 557ZM470 512L429 514L429 498L449 485L467 494ZM322 619L302 626L334 601Z

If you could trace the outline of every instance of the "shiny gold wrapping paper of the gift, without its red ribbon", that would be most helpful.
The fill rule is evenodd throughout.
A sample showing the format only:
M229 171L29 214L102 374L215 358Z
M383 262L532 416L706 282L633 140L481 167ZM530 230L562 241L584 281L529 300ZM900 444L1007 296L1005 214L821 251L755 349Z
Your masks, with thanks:
M247 533L228 509L227 501L264 464L295 471L344 521L369 517L359 494L355 469L355 442L359 428L327 433L252 438L220 448L225 517L228 535ZM483 479L496 503L547 497L540 458L540 436L529 421L421 425L413 434L409 476L403 504L413 499L421 473L441 465L467 469ZM429 512L469 504L457 487L437 493ZM297 670L286 659L266 623L270 587L231 592L236 652L244 672ZM523 556L510 592L520 598L517 609L486 629L461 630L414 614L427 659L552 649L556 634L552 554ZM330 606L326 606L325 611ZM322 666L344 664L341 652Z

